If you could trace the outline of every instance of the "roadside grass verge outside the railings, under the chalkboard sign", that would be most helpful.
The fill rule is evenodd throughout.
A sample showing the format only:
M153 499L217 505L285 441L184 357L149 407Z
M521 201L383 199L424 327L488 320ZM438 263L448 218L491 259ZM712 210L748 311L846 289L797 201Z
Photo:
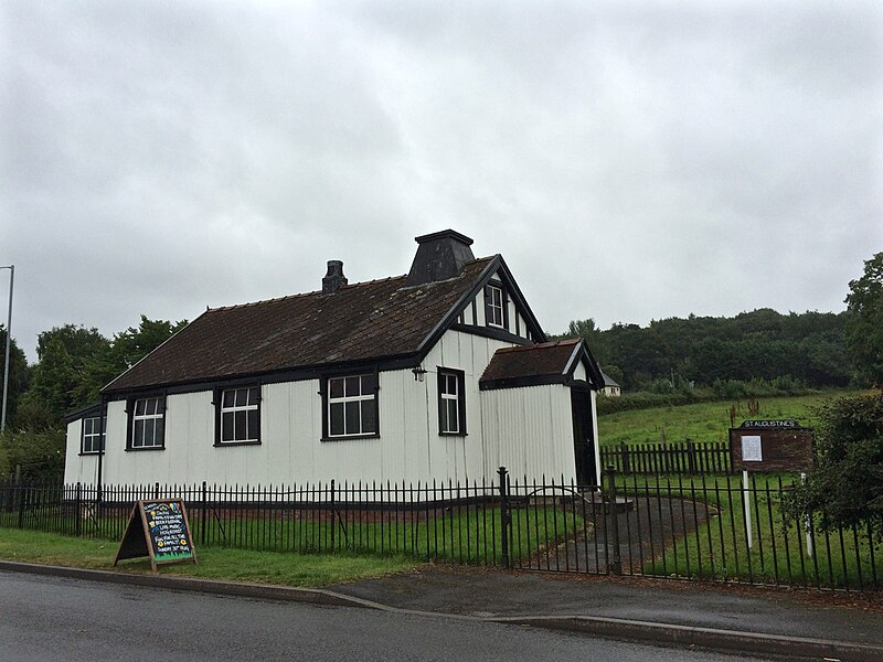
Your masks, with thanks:
M114 566L118 543L61 536L39 531L0 528L0 558L77 568L149 574L149 559ZM421 565L403 556L294 554L198 548L199 563L159 566L162 575L317 587L403 573Z

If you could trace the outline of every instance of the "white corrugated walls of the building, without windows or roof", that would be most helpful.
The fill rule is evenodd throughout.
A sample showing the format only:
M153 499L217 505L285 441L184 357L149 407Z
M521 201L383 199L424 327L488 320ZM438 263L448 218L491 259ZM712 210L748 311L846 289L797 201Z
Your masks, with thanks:
M483 310L483 301L478 310ZM262 387L259 445L215 447L213 394L203 391L167 397L164 450L126 451L125 403L111 402L104 483L198 484L204 480L210 484L276 485L333 478L384 484L449 479L462 484L493 479L500 465L521 467L521 472L536 468L560 472L562 462L572 472L566 389L562 388L560 397L544 391L545 401L535 395L511 399L515 396L503 391L479 392L478 381L491 356L508 346L512 343L448 331L426 356L423 382L415 380L409 369L380 373L380 438L322 441L318 380ZM464 437L438 434L439 366L465 374L468 434ZM488 403L493 404L492 410L482 413ZM561 425L558 418L566 430L555 428ZM497 423L491 425L491 420ZM93 482L93 458L78 456L78 426L79 421L68 426L65 480ZM568 440L570 459L533 441L550 435Z

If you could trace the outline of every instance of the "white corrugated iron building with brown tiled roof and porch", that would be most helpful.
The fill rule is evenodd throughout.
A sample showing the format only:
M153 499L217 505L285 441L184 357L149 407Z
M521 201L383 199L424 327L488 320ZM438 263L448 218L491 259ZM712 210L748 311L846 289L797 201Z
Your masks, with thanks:
M584 341L546 342L500 255L416 241L405 276L206 310L68 418L65 482L597 484Z

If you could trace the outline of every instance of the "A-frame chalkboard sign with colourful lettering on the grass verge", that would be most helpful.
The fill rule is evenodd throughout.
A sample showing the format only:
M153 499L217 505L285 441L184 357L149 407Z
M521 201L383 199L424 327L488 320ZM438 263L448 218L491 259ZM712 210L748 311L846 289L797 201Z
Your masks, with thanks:
M131 509L131 516L119 543L114 565L126 558L150 557L150 567L193 559L193 536L181 499L142 500Z

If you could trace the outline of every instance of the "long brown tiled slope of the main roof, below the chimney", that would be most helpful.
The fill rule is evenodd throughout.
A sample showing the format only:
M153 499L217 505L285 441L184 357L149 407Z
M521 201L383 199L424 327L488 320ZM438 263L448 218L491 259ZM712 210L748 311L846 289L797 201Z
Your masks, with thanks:
M208 310L104 393L415 354L494 260L415 287L398 276Z

